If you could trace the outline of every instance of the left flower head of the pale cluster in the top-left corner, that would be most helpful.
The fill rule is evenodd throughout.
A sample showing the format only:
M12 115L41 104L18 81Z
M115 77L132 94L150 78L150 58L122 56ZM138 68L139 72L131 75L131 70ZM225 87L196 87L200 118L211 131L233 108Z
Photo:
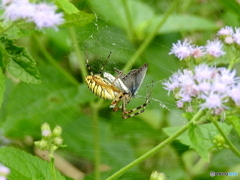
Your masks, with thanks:
M18 19L28 19L35 13L35 5L27 0L18 0L11 2L5 7L3 13L4 20L16 21Z

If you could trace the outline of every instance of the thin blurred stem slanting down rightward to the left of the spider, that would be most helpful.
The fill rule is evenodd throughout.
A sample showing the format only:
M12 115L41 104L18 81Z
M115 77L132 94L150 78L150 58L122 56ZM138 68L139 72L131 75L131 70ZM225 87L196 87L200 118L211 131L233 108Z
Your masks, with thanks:
M60 71L72 84L78 85L79 84L78 81L70 73L68 73L62 66L60 66L51 56L51 54L46 50L43 43L40 42L39 37L37 37L36 34L33 34L33 38L36 41L39 50L43 53L47 61L50 62L58 71Z

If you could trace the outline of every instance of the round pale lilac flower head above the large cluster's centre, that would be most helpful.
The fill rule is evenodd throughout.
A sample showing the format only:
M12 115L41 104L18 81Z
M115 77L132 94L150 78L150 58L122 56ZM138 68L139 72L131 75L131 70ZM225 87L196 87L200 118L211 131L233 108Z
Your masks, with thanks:
M222 51L223 44L218 39L214 39L213 41L207 41L207 45L205 46L206 52L214 57L220 57L225 54Z

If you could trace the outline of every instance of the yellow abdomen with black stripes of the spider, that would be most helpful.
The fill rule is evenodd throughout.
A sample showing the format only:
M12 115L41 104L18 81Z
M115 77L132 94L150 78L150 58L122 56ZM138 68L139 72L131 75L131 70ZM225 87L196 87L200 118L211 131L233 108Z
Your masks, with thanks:
M85 83L95 95L103 99L113 100L120 93L118 88L99 75L86 76Z

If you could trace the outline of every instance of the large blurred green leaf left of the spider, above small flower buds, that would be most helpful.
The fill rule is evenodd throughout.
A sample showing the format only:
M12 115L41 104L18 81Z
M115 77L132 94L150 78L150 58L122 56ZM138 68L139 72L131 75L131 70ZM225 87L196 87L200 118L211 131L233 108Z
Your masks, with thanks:
M7 89L11 93L5 111L2 110L0 114L6 114L1 127L8 137L21 139L26 136L22 132L38 137L39 132L32 127L40 127L44 122L62 125L75 118L75 114L81 117L79 113L84 109L81 106L96 98L85 84L73 86L55 68L43 66L39 70L43 83L37 86L19 83L14 89Z

